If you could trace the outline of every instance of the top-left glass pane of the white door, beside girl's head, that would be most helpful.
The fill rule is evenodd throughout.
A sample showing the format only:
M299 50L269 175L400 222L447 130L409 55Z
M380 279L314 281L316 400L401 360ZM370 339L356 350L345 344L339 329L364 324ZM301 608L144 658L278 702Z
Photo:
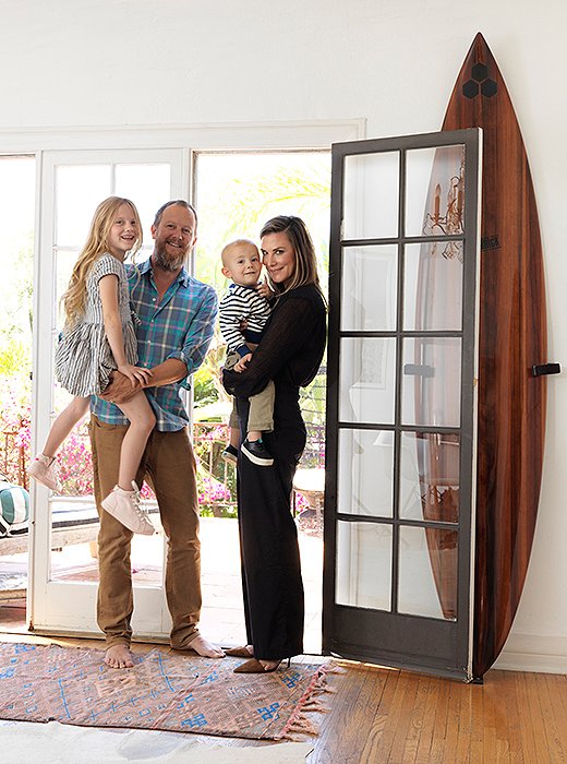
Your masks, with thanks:
M97 205L112 193L110 165L60 165L56 169L58 247L82 247Z

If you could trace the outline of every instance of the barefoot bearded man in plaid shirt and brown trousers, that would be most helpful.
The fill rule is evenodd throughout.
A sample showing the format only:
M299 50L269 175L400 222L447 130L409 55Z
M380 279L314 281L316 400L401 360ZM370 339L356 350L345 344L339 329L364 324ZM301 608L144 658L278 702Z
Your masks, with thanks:
M136 484L154 488L167 538L166 598L171 613L173 649L221 658L221 649L198 632L201 614L201 546L196 467L188 433L189 415L181 399L188 378L203 362L217 315L213 287L185 268L196 241L195 210L185 201L164 204L154 219L154 252L130 266L130 299L137 317L138 365L150 369L147 384L114 372L112 382L91 409L95 499L100 516L97 621L106 636L105 662L134 665L130 650L133 612L130 545L132 532L105 512L101 499L117 484L120 446L129 422L114 406L143 389L156 416ZM142 509L138 508L140 512Z

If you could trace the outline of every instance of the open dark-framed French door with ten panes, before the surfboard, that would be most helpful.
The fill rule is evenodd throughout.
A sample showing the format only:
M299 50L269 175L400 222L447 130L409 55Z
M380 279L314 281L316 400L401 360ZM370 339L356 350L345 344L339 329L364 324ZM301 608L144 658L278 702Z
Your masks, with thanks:
M324 652L471 678L481 131L333 146Z

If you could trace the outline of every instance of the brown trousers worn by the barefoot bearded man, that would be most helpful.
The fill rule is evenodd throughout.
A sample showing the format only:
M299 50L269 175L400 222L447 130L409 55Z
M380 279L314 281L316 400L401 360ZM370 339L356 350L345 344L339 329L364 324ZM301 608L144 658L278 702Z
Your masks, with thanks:
M105 512L100 502L118 481L120 446L128 425L106 425L91 417L94 488L98 534L98 625L107 645L130 644L133 612L130 542L132 532ZM198 634L201 614L201 542L195 457L186 428L154 430L142 458L136 482L144 477L155 490L167 537L166 597L173 622L171 647L188 647Z

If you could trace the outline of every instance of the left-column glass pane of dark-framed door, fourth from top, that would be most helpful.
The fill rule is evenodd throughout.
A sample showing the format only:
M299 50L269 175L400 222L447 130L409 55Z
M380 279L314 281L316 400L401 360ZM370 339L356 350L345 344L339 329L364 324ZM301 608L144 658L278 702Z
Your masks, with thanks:
M391 516L394 433L339 431L338 512Z

